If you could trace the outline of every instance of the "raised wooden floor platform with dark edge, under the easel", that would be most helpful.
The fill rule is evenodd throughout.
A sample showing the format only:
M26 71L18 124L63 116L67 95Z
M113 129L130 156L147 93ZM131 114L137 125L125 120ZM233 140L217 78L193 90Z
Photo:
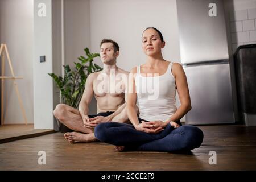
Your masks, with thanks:
M53 133L54 130L35 130L33 124L28 125L2 125L0 126L0 143L11 142L18 139L38 137Z

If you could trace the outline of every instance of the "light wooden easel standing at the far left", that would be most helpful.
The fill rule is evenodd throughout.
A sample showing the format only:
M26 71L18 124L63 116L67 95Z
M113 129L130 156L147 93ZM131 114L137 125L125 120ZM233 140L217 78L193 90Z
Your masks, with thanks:
M1 88L1 125L3 125L4 122L5 122L4 118L3 118L3 86L4 86L5 79L12 79L13 80L14 88L15 88L15 91L16 91L16 94L17 94L18 100L19 100L19 105L20 105L20 108L22 109L22 115L23 115L24 121L27 125L26 113L25 113L25 110L24 110L24 107L23 107L23 104L22 104L22 100L20 98L18 85L15 81L16 79L22 79L22 77L15 77L14 76L13 65L11 64L11 60L10 60L10 56L9 56L9 52L8 52L6 44L1 44L1 46L0 46L0 55L1 55L1 58L2 58L2 75L0 76L0 80L2 80L2 88ZM11 77L10 76L4 76L5 75L5 55L7 56L7 60L9 62L11 75L12 75Z

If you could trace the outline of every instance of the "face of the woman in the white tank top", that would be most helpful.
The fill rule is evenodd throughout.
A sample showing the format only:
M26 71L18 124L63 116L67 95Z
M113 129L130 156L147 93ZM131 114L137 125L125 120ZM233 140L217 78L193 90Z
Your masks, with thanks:
M161 49L164 47L164 42L161 42L158 32L153 28L149 28L142 35L142 49L148 56L161 54Z

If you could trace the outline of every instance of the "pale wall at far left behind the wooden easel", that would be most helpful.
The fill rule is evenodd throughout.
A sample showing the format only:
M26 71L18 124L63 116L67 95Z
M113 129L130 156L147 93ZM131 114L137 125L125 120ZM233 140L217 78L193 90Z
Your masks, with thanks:
M33 0L0 1L0 40L7 44L15 76L23 77L16 82L28 123L33 123ZM5 60L5 75L11 76L9 64ZM12 80L5 81L4 92L5 123L24 123Z

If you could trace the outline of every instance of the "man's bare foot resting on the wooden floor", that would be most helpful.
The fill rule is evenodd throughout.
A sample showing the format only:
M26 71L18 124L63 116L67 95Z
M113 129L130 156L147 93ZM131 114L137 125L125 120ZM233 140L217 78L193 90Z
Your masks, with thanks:
M94 137L94 133L79 133L79 132L68 132L64 134L65 139L68 140L69 143L77 143L77 142L94 142L96 138Z

